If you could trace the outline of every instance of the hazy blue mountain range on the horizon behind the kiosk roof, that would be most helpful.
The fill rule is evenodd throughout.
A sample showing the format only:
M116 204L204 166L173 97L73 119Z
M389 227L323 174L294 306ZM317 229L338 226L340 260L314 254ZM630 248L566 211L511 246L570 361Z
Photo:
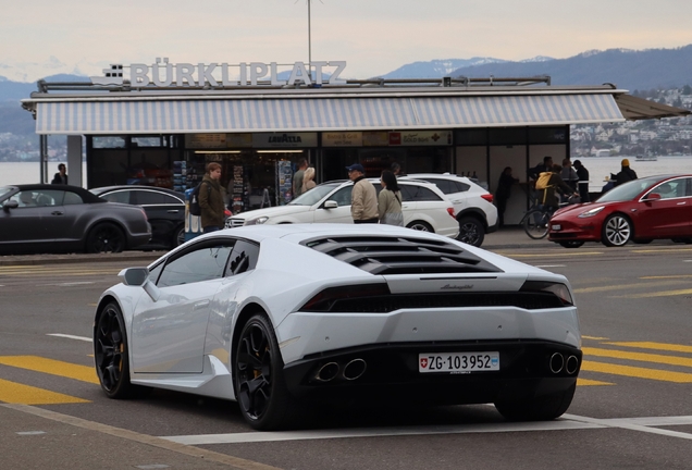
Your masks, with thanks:
M55 59L53 58L53 61ZM0 71L8 70L0 64ZM650 90L692 84L692 45L675 49L608 49L586 51L567 59L535 57L523 61L495 58L444 59L413 62L392 71L382 78L470 78L551 76L552 85L601 85ZM84 75L60 74L47 82L86 82ZM36 83L10 81L0 76L0 134L34 134L34 122L18 106L18 100L36 91Z

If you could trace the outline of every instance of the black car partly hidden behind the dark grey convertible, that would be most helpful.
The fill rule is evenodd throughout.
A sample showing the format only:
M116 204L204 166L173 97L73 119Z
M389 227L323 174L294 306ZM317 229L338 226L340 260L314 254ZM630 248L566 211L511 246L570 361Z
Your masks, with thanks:
M110 202L140 206L151 224L151 240L140 248L174 248L185 242L185 195L153 186L106 186L89 189Z

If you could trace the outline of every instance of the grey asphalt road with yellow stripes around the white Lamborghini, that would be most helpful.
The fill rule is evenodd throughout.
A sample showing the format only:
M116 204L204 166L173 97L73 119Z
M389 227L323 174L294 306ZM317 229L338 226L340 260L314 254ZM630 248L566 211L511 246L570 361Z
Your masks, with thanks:
M492 406L336 410L258 433L234 403L109 400L92 371L99 294L139 259L0 265L1 468L689 469L692 247L493 249L570 280L584 363L561 419ZM146 256L145 256L146 258Z

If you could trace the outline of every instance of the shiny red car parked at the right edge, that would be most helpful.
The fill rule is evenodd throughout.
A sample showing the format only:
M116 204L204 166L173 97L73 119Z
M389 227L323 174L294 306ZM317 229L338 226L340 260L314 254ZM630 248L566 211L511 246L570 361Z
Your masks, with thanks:
M595 202L567 206L551 219L548 239L565 248L584 242L623 246L670 238L692 244L692 175L648 176L625 183Z

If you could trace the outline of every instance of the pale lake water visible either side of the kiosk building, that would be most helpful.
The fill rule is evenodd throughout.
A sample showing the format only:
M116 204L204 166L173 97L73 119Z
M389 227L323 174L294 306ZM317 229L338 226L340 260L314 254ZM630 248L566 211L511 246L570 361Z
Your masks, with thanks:
M600 191L605 184L604 178L610 173L620 171L620 161L623 157L588 157L580 158L581 163L589 170L590 190ZM658 157L656 161L637 161L634 157L626 157L630 160L630 168L640 177L667 173L692 174L692 156ZM535 165L537 162L532 162ZM58 172L58 162L48 163L48 174L52 180ZM515 169L516 174L519 172ZM70 174L70 169L67 169ZM83 164L82 174L86 175L86 163ZM37 183L40 175L38 162L5 162L0 163L0 186L10 184Z

